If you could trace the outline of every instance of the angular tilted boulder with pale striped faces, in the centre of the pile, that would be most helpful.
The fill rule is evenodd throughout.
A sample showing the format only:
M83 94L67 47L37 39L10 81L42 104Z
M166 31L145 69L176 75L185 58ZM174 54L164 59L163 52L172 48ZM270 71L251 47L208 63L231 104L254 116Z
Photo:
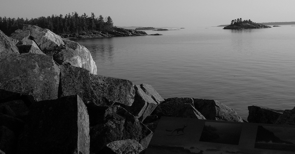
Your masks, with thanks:
M164 99L150 85L135 86L135 97L132 106L124 107L140 121L144 121Z

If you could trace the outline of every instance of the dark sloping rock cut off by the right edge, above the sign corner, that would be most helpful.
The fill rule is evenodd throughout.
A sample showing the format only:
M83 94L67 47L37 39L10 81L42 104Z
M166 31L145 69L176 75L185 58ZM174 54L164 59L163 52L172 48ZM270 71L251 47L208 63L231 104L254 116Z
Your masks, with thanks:
M285 110L283 114L278 117L275 124L295 125L295 108L292 110Z

